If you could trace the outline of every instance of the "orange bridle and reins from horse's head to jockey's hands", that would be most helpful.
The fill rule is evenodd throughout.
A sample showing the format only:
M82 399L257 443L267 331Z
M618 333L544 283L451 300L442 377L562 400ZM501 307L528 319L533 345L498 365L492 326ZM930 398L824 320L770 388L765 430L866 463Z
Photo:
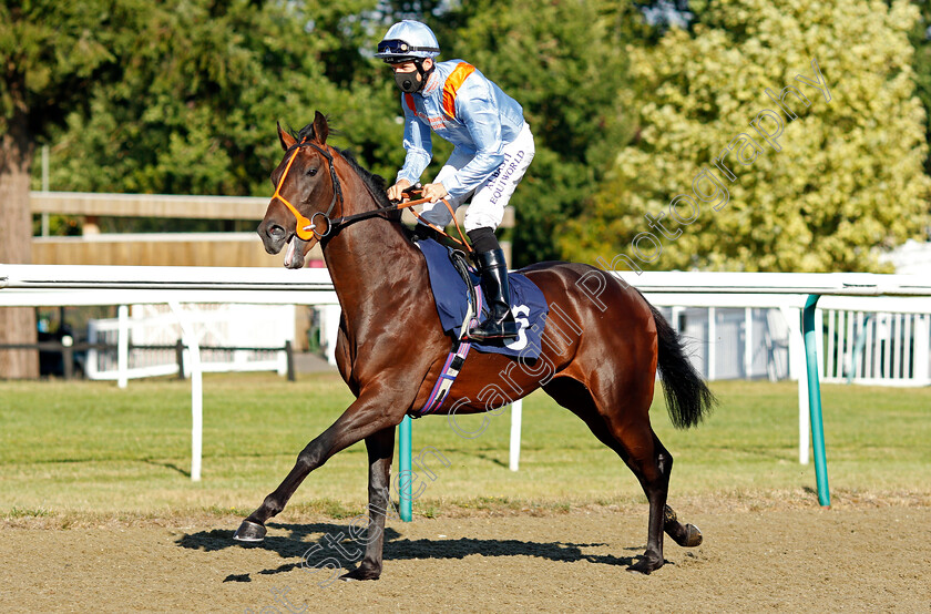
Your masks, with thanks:
M320 155L323 155L327 160L327 163L329 165L330 180L332 182L332 199L330 199L329 208L327 208L326 213L318 211L317 213L315 213L314 215L310 216L310 219L308 219L307 217L301 215L301 213L299 211L297 211L297 207L295 207L293 204L290 204L290 202L288 202L287 198L282 196L282 186L285 184L285 178L287 177L288 172L290 171L291 164L294 164L294 160L297 157L297 154L300 151L300 147L303 147L305 145L310 145L311 147L314 147L315 150L320 152ZM372 211L364 211L361 213L355 213L352 215L344 215L341 217L337 217L336 219L330 219L330 213L332 213L332 209L336 206L337 197L339 198L340 208L342 208L342 205L344 205L342 187L339 184L339 177L336 176L336 166L332 163L332 155L330 153L324 151L323 149L318 147L314 143L307 142L306 137L300 143L296 143L295 145L293 145L293 147L294 147L294 153L291 154L290 160L288 160L288 163L285 166L285 172L282 173L282 177L278 180L278 185L275 186L275 194L272 195L272 198L273 199L278 198L279 201L282 201L285 204L286 207L288 207L288 209L290 209L290 212L294 215L295 221L296 221L295 234L301 241L310 241L314 237L316 237L317 241L323 241L324 238L332 235L339 228L341 228L344 226L347 226L349 224L352 224L354 222L359 222L361 219L367 219L369 217L377 217L377 216L380 216L382 213L391 213L391 212L395 212L395 211L406 209L406 208L413 207L416 205L422 205L422 204L426 204L426 203L430 202L430 198L407 199L407 201L401 201L399 203L391 203L387 207L379 207L379 208L372 209ZM368 184L366 184L366 187L369 190L369 194L371 194L372 198L375 198L375 201L378 202L378 196L376 194L371 193L371 188L368 187ZM419 193L420 193L419 190L409 190L409 191L406 191L405 195L419 194ZM461 245L467 252L471 253L472 247L469 245L469 242L466 241L466 235L462 232L462 228L459 226L459 221L456 218L456 212L452 209L452 205L449 204L449 201L447 198L442 198L442 203L446 205L447 209L449 209L450 214L452 215L452 221L456 223L456 229L459 234L459 238L456 238L456 237L449 235L446 231L443 231L439 226L436 226L434 224L431 224L431 223L427 222L426 219L423 219L423 217L420 216L420 214L418 214L412 208L411 208L410 212L418 219L418 222L420 222L421 224L432 228L433 231L443 235L444 237L449 238L450 241ZM327 223L327 229L324 233L318 233L317 232L317 225L314 224L314 219L316 219L317 216L323 216L323 218Z

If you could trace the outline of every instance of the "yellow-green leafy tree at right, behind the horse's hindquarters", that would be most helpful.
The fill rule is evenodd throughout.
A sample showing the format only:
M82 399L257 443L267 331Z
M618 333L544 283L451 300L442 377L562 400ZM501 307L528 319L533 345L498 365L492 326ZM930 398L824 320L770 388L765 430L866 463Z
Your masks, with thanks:
M879 270L877 250L928 219L915 9L700 4L690 33L632 50L637 137L563 253L618 270Z

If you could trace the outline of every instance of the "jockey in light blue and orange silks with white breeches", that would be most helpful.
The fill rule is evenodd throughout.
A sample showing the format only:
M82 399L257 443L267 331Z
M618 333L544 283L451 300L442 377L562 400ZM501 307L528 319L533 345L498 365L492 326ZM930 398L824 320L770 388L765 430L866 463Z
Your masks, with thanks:
M533 160L533 135L514 99L462 60L434 62L439 54L437 37L418 21L393 24L378 43L376 58L391 64L405 112L407 157L388 197L401 199L430 164L431 131L453 144L442 170L423 186L422 196L430 202L421 216L444 227L452 215L439 201L446 198L456 211L472 198L466 233L475 250L489 317L469 331L469 338L510 339L518 336L518 325L511 314L508 265L494 229Z

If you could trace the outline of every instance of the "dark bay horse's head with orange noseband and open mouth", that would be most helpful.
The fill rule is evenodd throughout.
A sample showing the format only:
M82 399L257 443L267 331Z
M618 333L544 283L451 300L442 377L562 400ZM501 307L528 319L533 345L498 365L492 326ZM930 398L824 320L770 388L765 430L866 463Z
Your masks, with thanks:
M319 111L297 139L278 125L285 155L272 173L275 194L257 232L269 254L288 245L288 268L304 266L310 248L329 233L330 215L342 201L332 150L326 144L328 134L327 119Z

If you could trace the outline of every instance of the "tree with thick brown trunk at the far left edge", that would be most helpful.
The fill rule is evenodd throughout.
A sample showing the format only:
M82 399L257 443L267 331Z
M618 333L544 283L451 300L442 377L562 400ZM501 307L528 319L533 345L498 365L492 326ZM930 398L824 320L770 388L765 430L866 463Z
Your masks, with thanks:
M0 6L0 262L31 262L29 177L35 140L80 104L114 60L113 34L142 2L6 2ZM0 309L0 344L34 342L34 311ZM0 351L0 377L37 377L34 351Z

